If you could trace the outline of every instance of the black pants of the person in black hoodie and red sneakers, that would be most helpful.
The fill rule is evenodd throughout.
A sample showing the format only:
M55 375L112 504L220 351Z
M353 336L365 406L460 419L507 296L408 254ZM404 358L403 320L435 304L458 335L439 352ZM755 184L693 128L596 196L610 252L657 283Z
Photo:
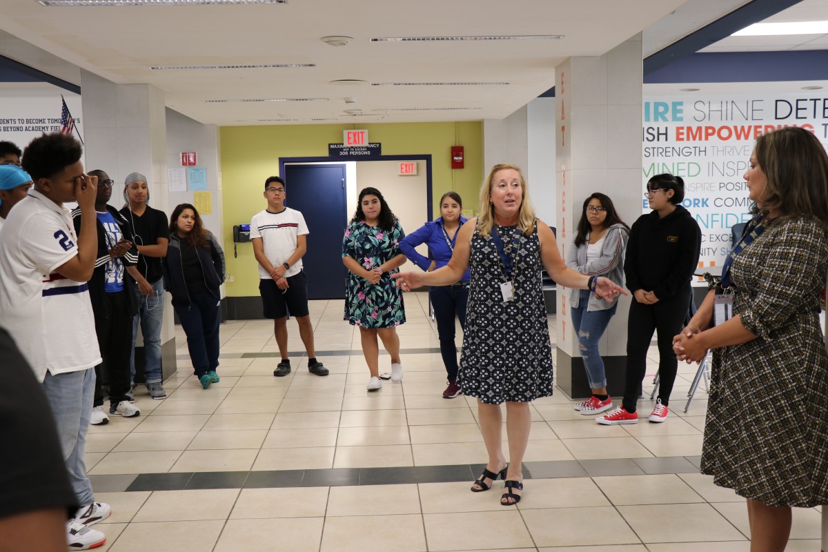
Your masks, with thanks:
M670 402L673 383L676 382L678 361L672 350L672 338L681 331L690 305L690 286L655 305L644 305L633 299L629 306L627 325L627 375L623 393L623 407L635 412L638 389L647 372L647 348L652 332L658 332L658 398L662 405Z

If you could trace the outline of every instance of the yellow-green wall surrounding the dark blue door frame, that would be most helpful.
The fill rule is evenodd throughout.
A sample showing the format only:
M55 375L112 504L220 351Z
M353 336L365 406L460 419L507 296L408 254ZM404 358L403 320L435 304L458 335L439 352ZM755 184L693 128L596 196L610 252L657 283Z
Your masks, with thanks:
M408 122L348 125L301 125L273 127L222 127L221 172L224 242L233 243L233 224L247 223L267 204L262 197L264 181L278 175L280 157L326 157L329 143L341 143L342 131L368 130L371 142L383 145L384 156L431 155L434 215L437 199L455 190L466 199L464 207L477 211L483 182L482 122ZM465 147L465 169L452 170L450 146ZM307 214L306 214L307 216ZM226 247L227 295L258 295L258 270L253 247L238 244L238 258ZM338 259L335 260L339 262Z

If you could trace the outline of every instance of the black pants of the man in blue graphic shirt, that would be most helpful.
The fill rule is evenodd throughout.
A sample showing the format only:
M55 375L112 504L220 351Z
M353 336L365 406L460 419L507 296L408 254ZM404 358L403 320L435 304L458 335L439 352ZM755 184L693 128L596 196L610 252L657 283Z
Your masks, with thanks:
M127 290L103 294L102 308L95 310L95 333L103 363L95 367L93 405L103 405L103 367L109 383L109 402L114 406L129 397L129 366L132 356L132 316L129 314Z

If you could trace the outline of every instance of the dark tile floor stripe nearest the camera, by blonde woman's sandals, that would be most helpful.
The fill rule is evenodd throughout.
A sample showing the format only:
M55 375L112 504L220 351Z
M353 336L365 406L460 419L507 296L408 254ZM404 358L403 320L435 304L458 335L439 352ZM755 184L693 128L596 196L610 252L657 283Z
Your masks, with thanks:
M606 460L559 460L523 464L523 478L582 478L654 473L697 473L698 457L612 458ZM294 469L265 472L140 473L93 476L94 485L106 492L181 491L185 489L238 489L273 487L341 487L397 485L403 483L473 482L484 464L400 466L390 468ZM106 478L106 479L103 479ZM96 488L96 491L104 492Z

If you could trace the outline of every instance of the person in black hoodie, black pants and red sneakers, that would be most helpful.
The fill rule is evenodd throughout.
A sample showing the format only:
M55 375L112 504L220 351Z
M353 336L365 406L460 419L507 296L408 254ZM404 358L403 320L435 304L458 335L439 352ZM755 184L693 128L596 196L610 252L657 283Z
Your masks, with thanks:
M701 230L696 219L681 207L684 180L671 174L653 176L644 196L652 213L643 214L633 224L623 264L627 287L633 292L623 402L609 415L595 420L604 425L638 423L636 402L653 330L658 332L659 388L649 420L667 420L667 404L678 371L672 336L681 331L686 319L690 281L699 262Z

